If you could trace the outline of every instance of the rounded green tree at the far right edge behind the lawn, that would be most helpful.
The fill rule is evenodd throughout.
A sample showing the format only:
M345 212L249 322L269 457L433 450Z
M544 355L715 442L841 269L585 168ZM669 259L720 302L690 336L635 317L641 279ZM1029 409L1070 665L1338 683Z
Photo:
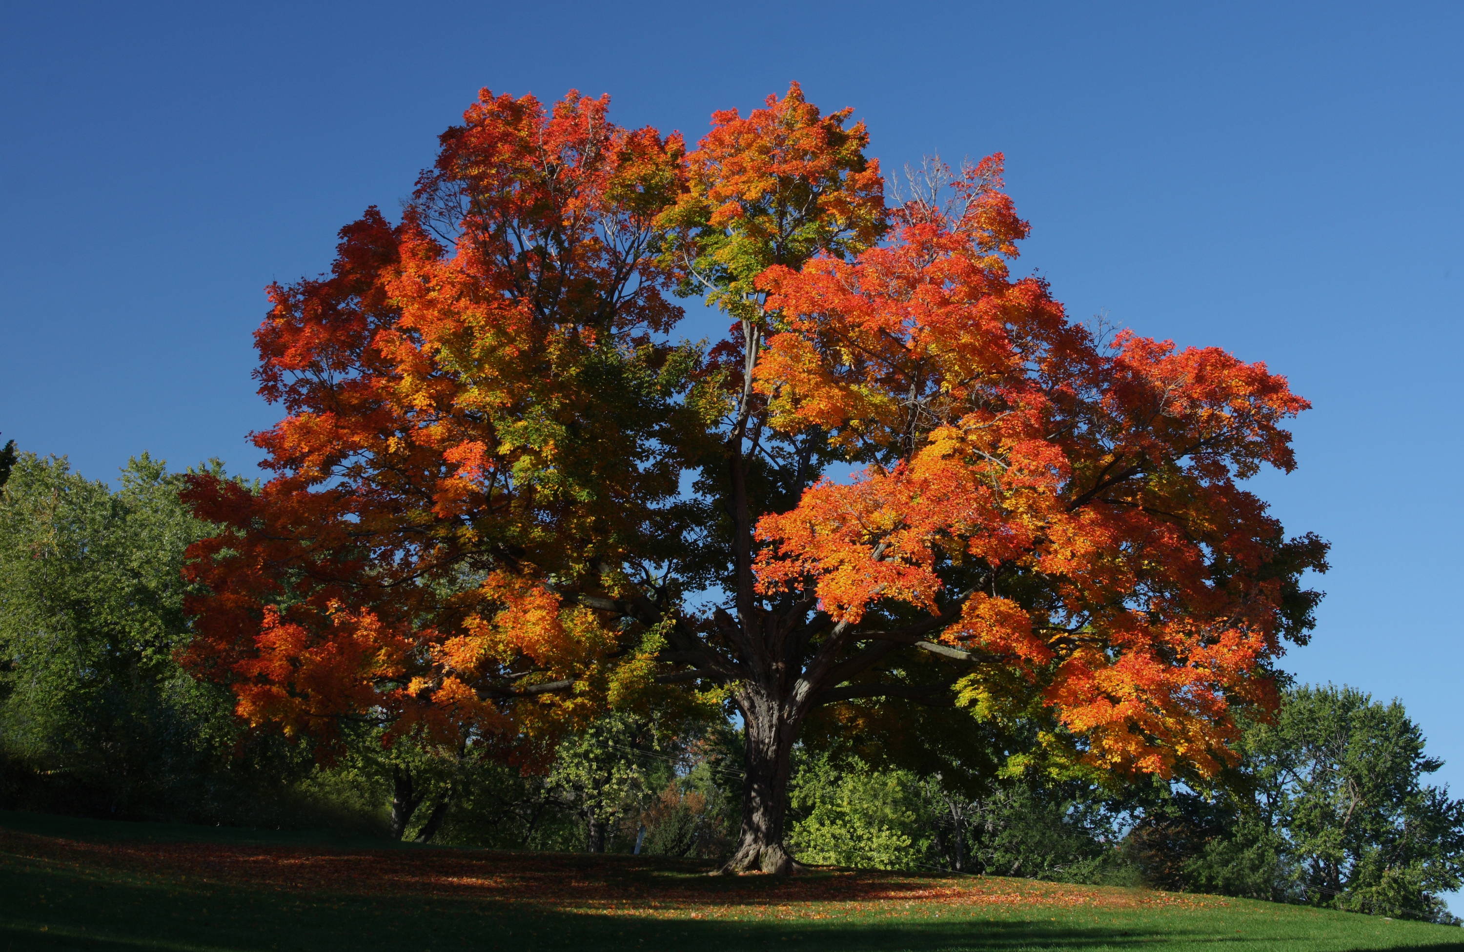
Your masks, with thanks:
M1263 898L1446 920L1439 893L1464 883L1464 801L1424 784L1442 762L1423 745L1397 700L1290 691L1275 724L1246 732L1253 800L1190 861L1193 888L1231 886L1225 867L1247 858Z

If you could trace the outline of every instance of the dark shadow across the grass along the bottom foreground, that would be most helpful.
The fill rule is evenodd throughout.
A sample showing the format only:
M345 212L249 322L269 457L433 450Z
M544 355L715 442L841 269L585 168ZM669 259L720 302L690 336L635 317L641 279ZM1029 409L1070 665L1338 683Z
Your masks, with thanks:
M6 949L829 949L849 952L1155 948L1285 948L1180 929L1072 921L651 920L531 910L404 895L299 895L173 877L124 880L47 863L0 869L0 946ZM1234 943L1234 945L1233 945ZM1369 943L1370 945L1370 943ZM1335 946L1334 946L1335 948ZM1460 946L1427 946L1446 949Z

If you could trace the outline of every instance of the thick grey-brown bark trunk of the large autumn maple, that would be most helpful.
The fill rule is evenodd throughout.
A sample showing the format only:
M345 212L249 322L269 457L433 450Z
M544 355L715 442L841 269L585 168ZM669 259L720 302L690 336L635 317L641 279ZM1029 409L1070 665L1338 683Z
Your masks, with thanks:
M802 869L783 845L788 781L801 718L793 718L763 691L750 690L738 702L745 737L742 830L723 873L761 870L786 876Z

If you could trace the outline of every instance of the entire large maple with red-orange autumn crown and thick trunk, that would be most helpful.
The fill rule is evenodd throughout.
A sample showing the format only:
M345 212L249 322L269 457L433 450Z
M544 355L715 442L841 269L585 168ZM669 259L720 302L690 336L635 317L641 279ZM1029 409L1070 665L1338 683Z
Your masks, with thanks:
M1217 773L1274 703L1325 545L1243 488L1293 467L1284 378L1113 337L1015 277L1001 157L886 199L793 85L698 148L608 100L483 92L398 224L271 289L258 492L206 475L189 663L242 715L529 762L662 690L742 718L728 869L786 871L824 704L1037 719L1107 770ZM731 319L673 338L668 294Z

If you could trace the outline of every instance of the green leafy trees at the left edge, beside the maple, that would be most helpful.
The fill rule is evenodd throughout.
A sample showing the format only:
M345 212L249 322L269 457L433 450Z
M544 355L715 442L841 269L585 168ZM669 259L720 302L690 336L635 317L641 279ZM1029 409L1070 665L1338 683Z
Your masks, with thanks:
M218 479L223 473L211 470ZM290 822L309 770L244 735L233 699L173 661L179 576L212 532L183 476L142 454L114 492L20 454L0 494L0 753L10 807L126 819Z

